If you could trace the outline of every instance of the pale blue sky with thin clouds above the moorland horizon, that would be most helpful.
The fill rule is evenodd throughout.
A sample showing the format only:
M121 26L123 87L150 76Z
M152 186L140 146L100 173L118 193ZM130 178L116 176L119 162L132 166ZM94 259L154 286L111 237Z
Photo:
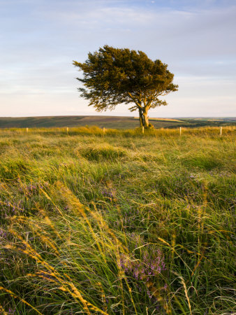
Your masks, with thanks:
M80 97L72 62L103 45L175 74L149 117L236 116L236 0L0 0L0 116L137 116Z

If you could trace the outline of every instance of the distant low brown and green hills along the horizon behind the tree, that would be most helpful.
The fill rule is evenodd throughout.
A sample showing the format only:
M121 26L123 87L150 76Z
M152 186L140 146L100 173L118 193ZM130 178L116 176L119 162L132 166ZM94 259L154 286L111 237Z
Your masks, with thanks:
M236 125L236 118L149 118L156 128ZM114 129L139 127L138 117L128 116L40 116L2 117L0 128L98 126Z

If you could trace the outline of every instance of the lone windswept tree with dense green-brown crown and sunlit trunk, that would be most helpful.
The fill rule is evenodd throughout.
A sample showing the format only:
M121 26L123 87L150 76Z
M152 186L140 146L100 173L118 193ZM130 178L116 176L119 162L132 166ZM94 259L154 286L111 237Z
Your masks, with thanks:
M84 84L78 88L80 96L89 99L89 106L96 111L115 109L118 104L133 104L130 111L138 110L140 127L152 127L147 113L156 106L167 105L158 97L177 91L172 83L174 74L168 64L152 61L145 52L108 45L93 54L89 52L84 63L73 61L83 71Z

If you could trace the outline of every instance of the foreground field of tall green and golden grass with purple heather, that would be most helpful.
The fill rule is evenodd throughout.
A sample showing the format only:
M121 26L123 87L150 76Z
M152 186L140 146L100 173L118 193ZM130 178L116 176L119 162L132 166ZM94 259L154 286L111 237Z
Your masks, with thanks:
M0 314L235 314L235 127L0 130Z

